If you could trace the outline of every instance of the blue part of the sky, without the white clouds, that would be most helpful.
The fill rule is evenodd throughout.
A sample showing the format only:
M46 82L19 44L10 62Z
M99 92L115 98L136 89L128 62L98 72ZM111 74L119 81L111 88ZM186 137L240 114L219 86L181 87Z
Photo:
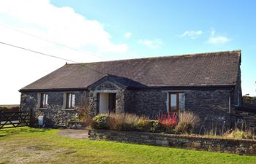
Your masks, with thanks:
M89 19L105 24L113 42L129 44L129 56L140 58L224 50L242 50L243 93L255 95L256 81L256 2L255 1L56 1ZM124 40L129 31L131 37ZM181 36L185 31L203 34ZM211 33L227 42L210 43ZM161 39L158 48L138 44L140 39ZM133 55L134 54L134 55ZM253 94L254 93L254 94Z

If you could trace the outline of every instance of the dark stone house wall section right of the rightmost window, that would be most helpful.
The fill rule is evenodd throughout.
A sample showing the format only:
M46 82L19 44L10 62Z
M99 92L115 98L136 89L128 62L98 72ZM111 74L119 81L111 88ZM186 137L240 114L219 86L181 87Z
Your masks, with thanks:
M207 132L217 128L228 130L231 124L229 109L230 90L187 90L185 109L200 117L200 130ZM232 99L232 98L231 98ZM231 111L233 101L231 101Z

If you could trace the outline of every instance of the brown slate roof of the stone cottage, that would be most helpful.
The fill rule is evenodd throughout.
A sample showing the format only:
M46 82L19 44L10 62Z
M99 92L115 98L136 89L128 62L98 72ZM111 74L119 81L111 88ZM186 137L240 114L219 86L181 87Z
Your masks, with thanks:
M129 86L236 85L241 50L66 64L22 90L86 88L108 74ZM132 83L131 83L132 82Z

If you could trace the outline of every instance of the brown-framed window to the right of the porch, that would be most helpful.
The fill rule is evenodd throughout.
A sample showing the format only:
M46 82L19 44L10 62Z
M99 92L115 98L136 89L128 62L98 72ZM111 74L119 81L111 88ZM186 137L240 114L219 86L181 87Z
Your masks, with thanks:
M185 93L169 93L169 112L185 109Z

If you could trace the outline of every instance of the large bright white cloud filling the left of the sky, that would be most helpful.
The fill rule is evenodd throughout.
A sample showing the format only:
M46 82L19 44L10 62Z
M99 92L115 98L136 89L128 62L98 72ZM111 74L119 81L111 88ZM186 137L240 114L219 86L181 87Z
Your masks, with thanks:
M74 47L72 50L35 36ZM125 53L127 44L116 44L104 25L89 20L71 7L55 7L48 0L0 1L0 42L57 55L78 62L100 60L105 53ZM0 104L18 104L17 90L63 66L65 61L0 44Z

